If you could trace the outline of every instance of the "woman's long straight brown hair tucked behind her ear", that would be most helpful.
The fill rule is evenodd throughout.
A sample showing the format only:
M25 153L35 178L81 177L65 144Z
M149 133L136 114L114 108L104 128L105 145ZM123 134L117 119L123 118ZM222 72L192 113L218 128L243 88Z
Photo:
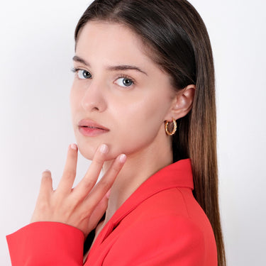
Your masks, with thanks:
M192 110L177 121L174 161L192 160L194 196L216 238L218 265L226 265L218 207L216 99L209 35L199 13L186 0L96 0L80 18L74 37L92 20L123 23L152 50L153 60L170 74L175 89L196 85Z

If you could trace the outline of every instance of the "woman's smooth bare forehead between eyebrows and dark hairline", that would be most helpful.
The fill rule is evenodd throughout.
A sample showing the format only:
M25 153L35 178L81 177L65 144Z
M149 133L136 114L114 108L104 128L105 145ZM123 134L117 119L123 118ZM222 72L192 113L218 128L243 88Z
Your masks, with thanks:
M98 60L154 64L148 56L148 48L136 33L121 23L108 21L89 21L79 33L76 53L82 57L97 56Z

